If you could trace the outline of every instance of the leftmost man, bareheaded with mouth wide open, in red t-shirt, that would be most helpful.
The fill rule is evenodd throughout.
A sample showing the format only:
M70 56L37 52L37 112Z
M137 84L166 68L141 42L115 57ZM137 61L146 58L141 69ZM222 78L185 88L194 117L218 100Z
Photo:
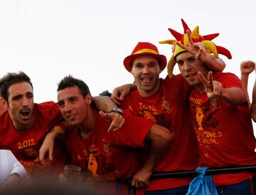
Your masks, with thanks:
M54 160L44 164L38 160L46 134L62 119L58 104L53 101L34 104L33 85L23 72L2 77L0 93L7 108L0 115L0 148L11 150L29 175L58 177L67 159L58 143L55 144Z

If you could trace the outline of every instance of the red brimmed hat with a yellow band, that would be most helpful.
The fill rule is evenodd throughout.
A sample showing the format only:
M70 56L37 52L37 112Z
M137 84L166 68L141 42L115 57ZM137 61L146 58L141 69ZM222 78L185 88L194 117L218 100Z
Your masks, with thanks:
M148 42L139 42L136 45L132 54L124 58L124 67L130 72L132 60L141 55L153 55L160 60L162 70L166 67L166 57L164 55L160 55L156 46Z

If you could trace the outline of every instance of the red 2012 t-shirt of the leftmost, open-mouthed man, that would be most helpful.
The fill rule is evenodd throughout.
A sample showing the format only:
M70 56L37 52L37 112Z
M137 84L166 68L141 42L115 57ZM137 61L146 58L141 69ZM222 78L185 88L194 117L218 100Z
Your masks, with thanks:
M28 130L14 128L8 111L0 116L0 147L11 150L31 176L50 174L58 176L63 171L67 155L60 143L55 143L54 160L42 165L38 151L48 131L57 125L62 116L53 101L34 104L33 125ZM55 174L54 174L55 173Z

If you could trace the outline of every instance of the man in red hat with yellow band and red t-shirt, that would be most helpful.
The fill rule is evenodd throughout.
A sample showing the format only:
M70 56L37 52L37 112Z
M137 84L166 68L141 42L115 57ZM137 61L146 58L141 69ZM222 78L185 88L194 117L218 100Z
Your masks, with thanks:
M208 58L211 57L206 55L203 60L211 69L223 70L225 67L222 60L212 62ZM127 111L165 126L174 135L174 144L155 171L196 169L198 148L188 111L191 87L181 74L159 79L159 74L166 67L166 57L159 55L156 46L151 43L138 43L132 55L124 59L124 67L134 76L137 90L124 97L124 91L129 89L117 88L113 93L114 100L117 103L121 100L121 106ZM146 194L186 194L190 182L191 178L154 179L144 191Z

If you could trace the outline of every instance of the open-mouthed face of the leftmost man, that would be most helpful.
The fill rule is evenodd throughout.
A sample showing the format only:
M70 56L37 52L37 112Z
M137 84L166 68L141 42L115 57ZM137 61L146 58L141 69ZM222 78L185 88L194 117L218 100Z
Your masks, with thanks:
M14 127L26 130L33 124L33 89L28 82L12 84L8 89L8 111Z

